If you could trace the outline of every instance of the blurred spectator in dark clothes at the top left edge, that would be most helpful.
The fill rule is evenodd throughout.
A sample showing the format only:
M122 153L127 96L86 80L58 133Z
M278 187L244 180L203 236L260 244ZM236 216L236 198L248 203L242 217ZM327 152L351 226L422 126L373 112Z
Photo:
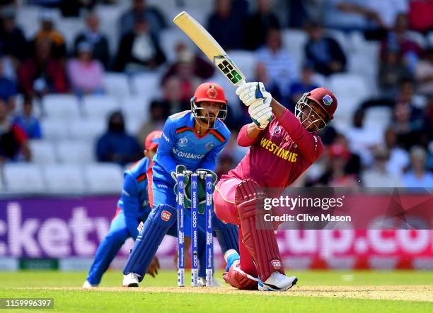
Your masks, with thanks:
M10 57L16 68L28 56L27 40L23 31L16 26L15 9L5 8L1 12L0 51Z

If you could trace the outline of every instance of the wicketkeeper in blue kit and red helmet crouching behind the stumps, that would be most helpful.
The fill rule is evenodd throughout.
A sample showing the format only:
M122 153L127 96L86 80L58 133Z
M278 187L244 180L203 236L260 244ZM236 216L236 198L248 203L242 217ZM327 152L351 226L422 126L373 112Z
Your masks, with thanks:
M202 83L191 99L191 110L168 117L149 171L149 202L152 211L134 244L123 269L123 285L138 287L149 268L163 237L177 235L177 203L173 187L176 167L214 172L217 157L229 141L230 131L222 122L227 114L224 90L217 83ZM150 175L151 174L151 175ZM216 175L215 175L216 177ZM174 179L173 179L174 178ZM205 284L204 214L199 214L199 285ZM212 218L214 235L223 254L229 249L238 251L238 227L225 224L216 215ZM190 210L185 210L185 225L190 225ZM190 228L185 227L190 237Z

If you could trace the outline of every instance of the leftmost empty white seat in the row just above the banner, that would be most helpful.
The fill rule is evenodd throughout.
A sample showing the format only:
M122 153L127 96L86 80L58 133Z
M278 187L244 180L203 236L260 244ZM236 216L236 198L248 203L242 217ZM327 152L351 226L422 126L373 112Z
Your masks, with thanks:
M8 191L23 194L46 190L40 165L6 163L4 165L4 179Z

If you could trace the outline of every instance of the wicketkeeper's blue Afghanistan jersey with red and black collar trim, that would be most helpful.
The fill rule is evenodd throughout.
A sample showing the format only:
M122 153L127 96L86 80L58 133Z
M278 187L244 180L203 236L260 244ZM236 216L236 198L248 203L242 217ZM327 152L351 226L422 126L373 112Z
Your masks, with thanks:
M179 164L192 171L197 168L215 171L218 155L229 142L230 131L217 119L215 129L199 137L194 122L191 111L168 117L154 156L153 179L173 182L171 172Z

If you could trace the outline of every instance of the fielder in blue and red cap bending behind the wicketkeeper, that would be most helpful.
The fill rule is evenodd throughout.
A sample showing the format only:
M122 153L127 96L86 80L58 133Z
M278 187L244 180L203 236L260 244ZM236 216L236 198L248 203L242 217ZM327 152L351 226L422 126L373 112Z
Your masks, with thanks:
M83 288L97 287L107 271L108 266L115 258L117 252L125 241L132 237L137 238L137 227L141 221L146 220L150 213L148 197L147 171L151 167L162 131L152 131L145 142L144 158L137 161L125 170L125 182L122 187L122 196L117 202L117 211L112 219L110 231L96 250L95 260L88 272ZM151 260L148 273L154 276L158 273L158 259Z

